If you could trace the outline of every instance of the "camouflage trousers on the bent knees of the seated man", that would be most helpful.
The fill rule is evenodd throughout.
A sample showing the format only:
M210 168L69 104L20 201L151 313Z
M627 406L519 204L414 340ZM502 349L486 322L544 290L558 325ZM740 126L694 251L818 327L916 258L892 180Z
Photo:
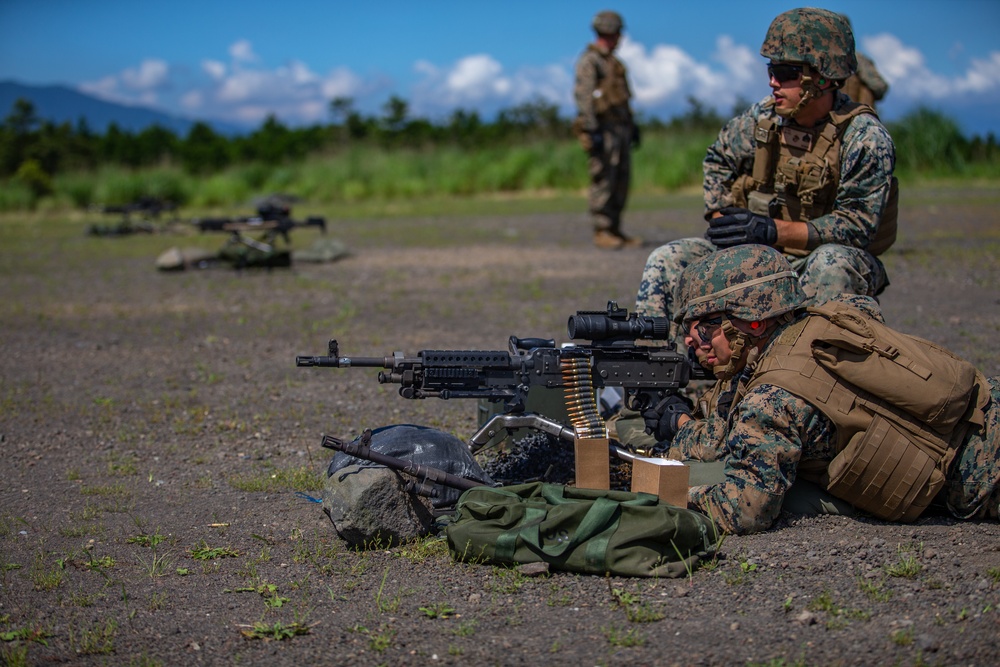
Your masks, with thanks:
M688 264L698 261L715 246L699 238L678 239L660 246L646 260L635 309L644 317L673 318L678 302L680 276ZM805 257L787 256L799 274L799 283L809 303L823 303L840 294L875 296L889 284L876 257L849 246L824 244ZM672 337L678 331L671 332Z

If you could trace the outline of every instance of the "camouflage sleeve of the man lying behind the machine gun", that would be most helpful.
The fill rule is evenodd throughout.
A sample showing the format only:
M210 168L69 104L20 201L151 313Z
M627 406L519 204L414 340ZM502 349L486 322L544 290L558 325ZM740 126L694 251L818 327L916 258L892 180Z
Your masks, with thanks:
M724 440L725 481L693 486L688 504L726 532L767 530L803 458L832 458L833 426L784 389L761 385L733 407ZM805 451L804 451L805 450Z

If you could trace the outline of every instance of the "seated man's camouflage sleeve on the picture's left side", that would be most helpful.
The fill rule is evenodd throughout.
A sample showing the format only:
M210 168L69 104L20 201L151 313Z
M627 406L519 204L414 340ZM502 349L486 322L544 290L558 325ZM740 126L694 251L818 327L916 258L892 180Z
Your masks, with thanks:
M765 98L764 101L770 98ZM753 170L754 129L763 113L763 101L754 104L726 123L715 143L708 147L702 162L704 172L705 219L733 205L732 186L736 177Z

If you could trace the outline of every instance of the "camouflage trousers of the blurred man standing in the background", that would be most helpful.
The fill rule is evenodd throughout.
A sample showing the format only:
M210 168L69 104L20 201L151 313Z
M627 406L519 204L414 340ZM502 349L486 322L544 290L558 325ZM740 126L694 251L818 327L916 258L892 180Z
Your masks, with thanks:
M601 134L604 149L592 152L587 159L590 172L587 206L594 221L594 231L604 229L619 233L632 176L632 127L602 125Z

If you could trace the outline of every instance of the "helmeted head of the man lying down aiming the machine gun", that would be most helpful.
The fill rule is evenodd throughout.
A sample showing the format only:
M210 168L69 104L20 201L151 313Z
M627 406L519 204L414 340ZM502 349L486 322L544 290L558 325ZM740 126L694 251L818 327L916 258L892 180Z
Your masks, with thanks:
M680 278L675 319L694 345L713 348L720 379L738 373L782 322L805 301L799 277L774 248L748 244L713 252L689 264ZM714 340L721 332L723 338Z

